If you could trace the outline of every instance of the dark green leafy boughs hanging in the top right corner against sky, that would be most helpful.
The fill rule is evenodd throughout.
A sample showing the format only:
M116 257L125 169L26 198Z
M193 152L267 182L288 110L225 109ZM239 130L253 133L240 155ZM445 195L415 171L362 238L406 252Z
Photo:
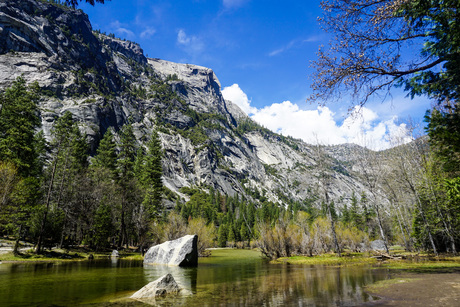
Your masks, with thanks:
M402 82L410 95L426 94L439 103L460 98L460 23L456 0L406 1L397 12L415 32L424 33L424 57L437 59L442 69L430 67Z

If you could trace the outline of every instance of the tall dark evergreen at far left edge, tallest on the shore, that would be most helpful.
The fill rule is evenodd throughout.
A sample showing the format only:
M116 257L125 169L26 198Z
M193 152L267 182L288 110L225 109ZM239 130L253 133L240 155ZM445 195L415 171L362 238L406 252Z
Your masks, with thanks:
M0 222L16 235L14 253L40 195L39 156L44 139L36 133L40 126L38 99L38 84L27 87L21 77L0 93Z

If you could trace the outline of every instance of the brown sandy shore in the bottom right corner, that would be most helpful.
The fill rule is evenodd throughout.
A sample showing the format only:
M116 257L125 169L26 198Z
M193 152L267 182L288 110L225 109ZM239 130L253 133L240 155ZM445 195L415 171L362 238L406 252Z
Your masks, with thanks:
M369 286L381 300L365 306L460 306L460 271L401 273L394 280Z

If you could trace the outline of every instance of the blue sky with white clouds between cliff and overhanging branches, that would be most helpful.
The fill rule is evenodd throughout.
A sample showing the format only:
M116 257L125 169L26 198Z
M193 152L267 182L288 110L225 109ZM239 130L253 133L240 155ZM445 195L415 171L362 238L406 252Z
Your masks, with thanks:
M319 3L112 0L80 8L94 29L139 43L149 57L212 68L224 96L274 131L307 142L370 142L375 145L369 147L386 148L388 133L403 128L400 121L407 116L420 122L430 103L396 90L383 103L371 101L353 120L347 101L326 108L307 104L310 62L329 40L317 21Z

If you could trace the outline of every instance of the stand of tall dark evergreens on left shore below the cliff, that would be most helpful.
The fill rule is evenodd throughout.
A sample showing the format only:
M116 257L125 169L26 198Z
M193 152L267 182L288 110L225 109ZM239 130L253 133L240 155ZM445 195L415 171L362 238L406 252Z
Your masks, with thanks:
M0 96L0 234L43 247L142 246L161 213L161 143L138 144L130 124L115 140L109 128L94 157L70 112L46 141L40 89L18 78ZM16 244L15 252L17 252Z

